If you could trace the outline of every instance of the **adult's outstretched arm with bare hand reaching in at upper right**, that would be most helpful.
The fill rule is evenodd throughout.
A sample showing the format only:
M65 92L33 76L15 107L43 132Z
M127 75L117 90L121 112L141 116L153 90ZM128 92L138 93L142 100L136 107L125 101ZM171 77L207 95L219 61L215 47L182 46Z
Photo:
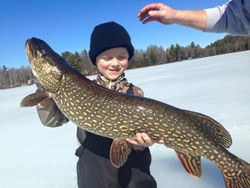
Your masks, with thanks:
M250 34L249 0L231 0L222 6L205 10L175 10L163 3L153 3L143 7L138 17L142 23L158 21L206 32Z

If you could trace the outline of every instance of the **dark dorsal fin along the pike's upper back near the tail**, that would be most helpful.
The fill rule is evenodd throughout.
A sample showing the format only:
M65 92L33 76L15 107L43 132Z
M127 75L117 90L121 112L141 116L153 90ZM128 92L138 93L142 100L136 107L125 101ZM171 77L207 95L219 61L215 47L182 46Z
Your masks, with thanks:
M209 132L212 131L212 133L215 135L216 139L222 146L229 148L232 145L232 137L230 133L219 122L201 113L188 110L184 111L191 115L194 119L198 119L198 121L200 121L203 125L208 126L208 128L210 129Z

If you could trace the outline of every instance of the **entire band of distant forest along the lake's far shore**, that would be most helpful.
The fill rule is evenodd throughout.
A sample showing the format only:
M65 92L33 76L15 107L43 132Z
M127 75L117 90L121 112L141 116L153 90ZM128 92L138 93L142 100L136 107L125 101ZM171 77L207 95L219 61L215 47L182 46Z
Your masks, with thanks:
M150 45L146 50L135 50L134 57L129 62L129 69L152 65L174 63L182 60L214 56L238 51L250 50L250 37L227 35L221 40L201 48L199 44L191 42L188 46L172 44L164 49L161 46ZM83 75L89 76L97 73L97 69L90 62L87 50L82 52L63 52L62 57ZM29 66L20 68L0 67L0 89L33 84L35 78Z

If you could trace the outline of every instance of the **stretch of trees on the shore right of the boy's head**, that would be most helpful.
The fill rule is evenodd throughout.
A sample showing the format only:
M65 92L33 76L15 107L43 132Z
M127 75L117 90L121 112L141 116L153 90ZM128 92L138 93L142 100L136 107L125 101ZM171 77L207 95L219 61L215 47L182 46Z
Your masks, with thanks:
M146 50L135 50L135 55L129 63L129 68L173 63L245 50L250 50L250 37L230 35L211 43L205 48L201 48L199 44L194 42L185 47L179 44L172 44L166 50L157 45L151 45Z

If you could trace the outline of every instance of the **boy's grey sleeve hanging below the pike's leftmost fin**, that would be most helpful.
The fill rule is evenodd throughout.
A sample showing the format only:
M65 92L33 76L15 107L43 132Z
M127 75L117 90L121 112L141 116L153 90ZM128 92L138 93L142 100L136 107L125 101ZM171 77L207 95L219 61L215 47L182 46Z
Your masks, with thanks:
M37 90L43 87L38 83ZM37 106L38 116L41 123L48 127L58 127L67 123L69 120L63 115L52 98L47 98L40 102Z

